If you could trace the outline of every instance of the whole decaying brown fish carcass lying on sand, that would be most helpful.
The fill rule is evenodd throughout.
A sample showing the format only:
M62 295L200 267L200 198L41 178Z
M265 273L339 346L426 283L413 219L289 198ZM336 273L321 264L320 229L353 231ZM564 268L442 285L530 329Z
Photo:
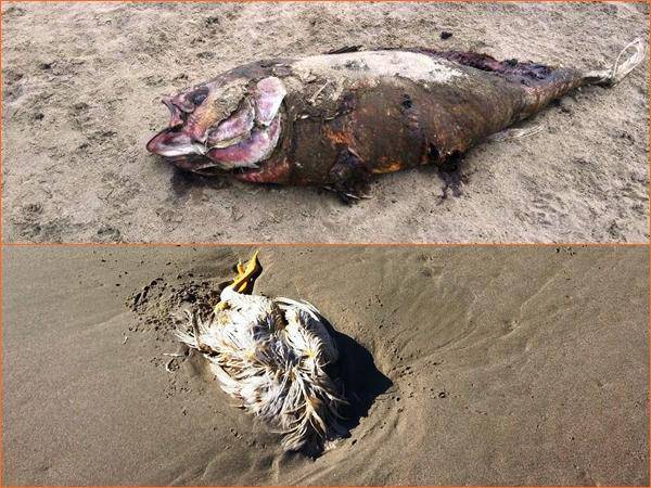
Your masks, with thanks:
M356 198L373 175L443 166L575 88L616 85L644 55L638 39L587 73L424 48L260 61L165 98L169 126L146 147L188 171Z

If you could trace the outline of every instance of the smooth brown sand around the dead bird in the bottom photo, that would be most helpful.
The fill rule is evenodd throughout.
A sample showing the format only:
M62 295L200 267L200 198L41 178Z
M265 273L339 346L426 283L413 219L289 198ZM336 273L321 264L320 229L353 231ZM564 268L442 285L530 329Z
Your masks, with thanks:
M169 310L250 253L9 248L4 484L648 486L646 248L263 248L370 403L316 461L165 370Z

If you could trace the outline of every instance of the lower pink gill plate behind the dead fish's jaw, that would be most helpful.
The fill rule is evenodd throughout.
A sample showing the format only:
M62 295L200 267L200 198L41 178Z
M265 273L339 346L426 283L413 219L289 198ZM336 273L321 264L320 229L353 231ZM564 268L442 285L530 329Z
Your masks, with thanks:
M280 136L280 114L267 129L255 129L251 137L228 147L214 147L207 156L222 168L257 168L256 163L271 155Z

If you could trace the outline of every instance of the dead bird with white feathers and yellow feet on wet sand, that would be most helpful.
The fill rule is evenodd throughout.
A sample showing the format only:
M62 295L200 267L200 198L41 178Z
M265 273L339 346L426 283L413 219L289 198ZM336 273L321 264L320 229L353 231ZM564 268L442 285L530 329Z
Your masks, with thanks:
M209 361L224 391L283 434L285 450L316 454L347 433L340 424L347 401L328 374L336 342L307 301L253 295L260 271L257 253L238 264L214 313L187 311L176 335Z

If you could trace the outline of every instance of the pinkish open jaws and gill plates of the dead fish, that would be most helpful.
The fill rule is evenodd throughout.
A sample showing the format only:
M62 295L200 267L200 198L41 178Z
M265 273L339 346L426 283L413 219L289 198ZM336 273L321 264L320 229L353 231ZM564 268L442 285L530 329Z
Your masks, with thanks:
M169 127L156 134L146 149L184 170L207 175L242 168L254 172L278 145L285 94L280 79L264 78L227 118L201 130L200 113L192 114L199 104L176 103L181 95L165 99L171 112ZM206 111L209 107L203 113Z

